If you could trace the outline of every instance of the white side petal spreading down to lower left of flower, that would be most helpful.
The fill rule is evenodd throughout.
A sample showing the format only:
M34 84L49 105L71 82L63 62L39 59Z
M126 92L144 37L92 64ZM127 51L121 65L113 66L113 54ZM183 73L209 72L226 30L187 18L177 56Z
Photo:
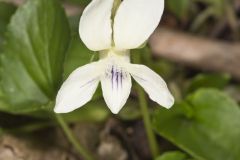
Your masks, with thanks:
M56 98L56 113L71 112L91 100L97 89L100 73L99 63L94 62L76 69L63 83Z

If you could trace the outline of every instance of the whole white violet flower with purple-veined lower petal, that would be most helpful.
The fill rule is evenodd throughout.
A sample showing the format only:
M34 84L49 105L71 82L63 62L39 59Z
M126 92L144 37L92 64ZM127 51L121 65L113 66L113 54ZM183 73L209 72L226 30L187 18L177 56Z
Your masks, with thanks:
M165 108L174 98L164 80L144 65L130 63L130 49L139 48L159 24L164 0L92 0L83 11L79 33L85 45L100 52L100 60L77 68L60 88L54 111L71 112L91 100L101 82L112 113L126 103L131 76L149 97Z

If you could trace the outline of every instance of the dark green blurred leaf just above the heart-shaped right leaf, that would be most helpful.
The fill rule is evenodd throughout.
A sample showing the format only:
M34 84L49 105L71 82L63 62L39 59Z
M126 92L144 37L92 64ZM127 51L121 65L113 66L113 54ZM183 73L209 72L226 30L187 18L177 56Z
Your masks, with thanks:
M228 74L199 74L191 80L188 92L195 91L199 88L224 88L230 81Z

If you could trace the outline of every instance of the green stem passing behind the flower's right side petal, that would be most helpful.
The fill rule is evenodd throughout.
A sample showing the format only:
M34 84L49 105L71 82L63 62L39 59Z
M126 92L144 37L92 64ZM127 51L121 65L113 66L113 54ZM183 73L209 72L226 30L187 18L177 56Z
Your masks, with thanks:
M134 63L141 62L139 53L136 53L133 56L133 61L134 61ZM156 136L151 127L151 120L150 120L150 114L149 114L149 110L148 110L146 95L145 95L145 92L143 91L143 89L139 85L137 85L136 89L137 89L137 93L139 96L139 105L141 107L143 122L144 122L145 130L146 130L146 134L147 134L147 138L148 138L150 151L151 151L153 158L156 158L157 156L159 156L159 147L157 144Z

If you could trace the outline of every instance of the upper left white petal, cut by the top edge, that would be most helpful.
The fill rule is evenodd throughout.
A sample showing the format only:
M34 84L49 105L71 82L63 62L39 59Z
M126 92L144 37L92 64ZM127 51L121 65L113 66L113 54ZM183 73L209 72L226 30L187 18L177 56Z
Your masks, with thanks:
M92 0L83 11L79 34L85 45L93 51L111 47L113 2L114 0Z

